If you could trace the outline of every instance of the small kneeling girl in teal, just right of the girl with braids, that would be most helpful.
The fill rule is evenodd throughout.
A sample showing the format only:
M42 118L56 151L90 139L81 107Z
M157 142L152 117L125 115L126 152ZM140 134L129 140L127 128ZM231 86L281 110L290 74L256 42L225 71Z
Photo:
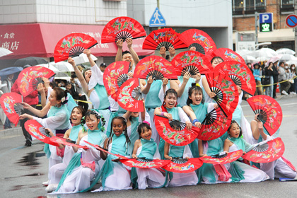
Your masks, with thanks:
M147 122L139 124L137 129L140 139L134 144L133 158L148 160L160 159L160 153L155 141L151 138L151 127ZM131 180L134 187L146 189L147 187L162 187L165 177L156 168L132 168Z

